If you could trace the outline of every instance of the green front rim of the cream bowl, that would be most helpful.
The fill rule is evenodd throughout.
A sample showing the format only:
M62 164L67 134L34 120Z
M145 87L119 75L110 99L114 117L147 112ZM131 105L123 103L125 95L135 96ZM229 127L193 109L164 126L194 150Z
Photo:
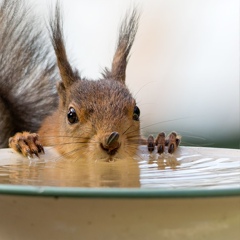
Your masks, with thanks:
M240 196L240 187L162 190L148 188L83 188L0 184L0 195L56 198L202 198Z

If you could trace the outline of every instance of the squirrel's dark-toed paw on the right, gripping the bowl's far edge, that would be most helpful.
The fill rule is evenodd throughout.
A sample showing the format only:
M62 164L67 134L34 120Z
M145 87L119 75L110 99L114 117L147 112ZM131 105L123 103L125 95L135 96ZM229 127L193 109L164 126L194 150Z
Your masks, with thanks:
M168 153L172 154L178 148L180 144L181 137L177 135L176 132L171 132L167 137L164 132L158 134L156 139L150 135L147 139L148 151L151 153L154 151L155 146L157 147L157 152L162 154L164 152L165 146L168 148Z

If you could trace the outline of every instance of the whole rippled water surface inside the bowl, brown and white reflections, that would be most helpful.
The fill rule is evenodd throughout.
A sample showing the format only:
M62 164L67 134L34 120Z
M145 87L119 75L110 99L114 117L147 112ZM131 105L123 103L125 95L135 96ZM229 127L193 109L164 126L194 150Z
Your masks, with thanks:
M5 151L5 152L4 152ZM149 154L115 162L62 159L47 149L28 160L1 150L0 184L159 189L239 188L240 151L180 147L174 155Z

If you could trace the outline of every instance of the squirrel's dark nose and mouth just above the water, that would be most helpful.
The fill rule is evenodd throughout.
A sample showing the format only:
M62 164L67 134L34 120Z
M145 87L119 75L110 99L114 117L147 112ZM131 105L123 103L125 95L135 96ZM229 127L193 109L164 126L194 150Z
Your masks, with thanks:
M105 143L101 143L101 148L106 151L109 155L114 155L120 147L120 143L118 141L119 133L112 132L109 136L106 137Z

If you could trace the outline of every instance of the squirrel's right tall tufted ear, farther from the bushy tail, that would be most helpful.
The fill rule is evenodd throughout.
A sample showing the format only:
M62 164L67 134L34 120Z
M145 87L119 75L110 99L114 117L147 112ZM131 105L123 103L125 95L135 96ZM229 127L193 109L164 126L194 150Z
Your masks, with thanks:
M129 59L129 53L132 48L135 35L138 29L139 15L136 9L130 14L126 14L124 20L121 23L117 49L113 57L112 70L105 69L103 76L105 78L113 78L119 82L125 84L126 68Z

